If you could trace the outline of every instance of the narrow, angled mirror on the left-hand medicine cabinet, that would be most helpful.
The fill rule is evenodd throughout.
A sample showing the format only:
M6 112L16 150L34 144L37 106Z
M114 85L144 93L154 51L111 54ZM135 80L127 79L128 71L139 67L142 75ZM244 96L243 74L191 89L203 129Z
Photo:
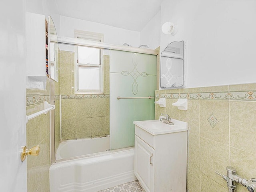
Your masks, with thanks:
M50 16L48 16L48 60L49 77L58 82L58 38Z

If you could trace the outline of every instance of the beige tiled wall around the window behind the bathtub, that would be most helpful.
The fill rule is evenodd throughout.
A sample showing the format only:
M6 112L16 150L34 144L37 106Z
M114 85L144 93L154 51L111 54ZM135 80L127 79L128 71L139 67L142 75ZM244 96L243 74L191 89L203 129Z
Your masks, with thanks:
M74 93L74 52L60 51L62 140L109 134L109 56L103 56L104 94Z

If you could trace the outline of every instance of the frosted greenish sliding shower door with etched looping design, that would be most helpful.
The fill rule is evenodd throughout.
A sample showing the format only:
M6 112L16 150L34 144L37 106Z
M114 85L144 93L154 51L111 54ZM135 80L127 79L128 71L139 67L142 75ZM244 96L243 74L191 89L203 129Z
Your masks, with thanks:
M136 97L154 96L156 64L156 55L110 50L110 150L134 146L133 122L155 118L154 98Z

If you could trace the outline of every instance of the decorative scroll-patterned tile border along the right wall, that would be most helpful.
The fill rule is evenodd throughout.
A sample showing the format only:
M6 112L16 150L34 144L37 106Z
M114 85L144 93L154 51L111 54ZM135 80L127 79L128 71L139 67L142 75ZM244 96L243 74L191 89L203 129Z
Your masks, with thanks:
M155 98L256 101L256 91L155 94Z

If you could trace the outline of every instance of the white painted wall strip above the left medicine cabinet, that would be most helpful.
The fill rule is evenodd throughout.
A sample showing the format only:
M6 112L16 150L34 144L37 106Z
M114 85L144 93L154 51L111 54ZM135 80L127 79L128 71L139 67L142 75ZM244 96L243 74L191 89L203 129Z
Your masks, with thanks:
M60 14L55 0L26 0L26 11L31 13L50 15L57 34L60 32Z

